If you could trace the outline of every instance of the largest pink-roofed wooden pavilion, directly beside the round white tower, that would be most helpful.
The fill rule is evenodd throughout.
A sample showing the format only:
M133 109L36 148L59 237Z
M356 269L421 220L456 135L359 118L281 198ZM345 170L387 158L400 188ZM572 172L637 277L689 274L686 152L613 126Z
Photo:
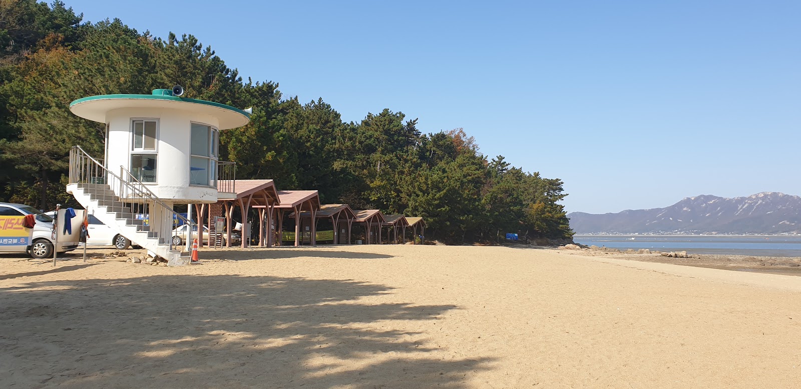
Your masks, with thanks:
M217 203L195 204L195 212L198 216L198 234L200 246L203 246L203 215L207 214L210 236L207 237L207 244L211 246L212 234L221 235L223 231L215 231L214 218L223 216L225 218L224 231L226 238L225 244L231 247L231 230L234 225L233 214L236 205L242 215L242 247L248 247L250 241L250 228L248 223L248 212L252 207L264 207L272 211L279 203L278 190L272 179L238 179L238 180L219 180L217 182L218 198ZM264 231L264 211L260 212L260 237ZM259 239L260 244L264 239Z

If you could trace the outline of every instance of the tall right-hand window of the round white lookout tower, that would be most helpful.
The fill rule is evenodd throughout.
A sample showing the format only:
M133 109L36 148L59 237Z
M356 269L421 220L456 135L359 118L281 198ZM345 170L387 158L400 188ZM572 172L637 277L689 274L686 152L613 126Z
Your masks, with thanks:
M192 123L189 171L191 185L217 185L217 133L214 127Z

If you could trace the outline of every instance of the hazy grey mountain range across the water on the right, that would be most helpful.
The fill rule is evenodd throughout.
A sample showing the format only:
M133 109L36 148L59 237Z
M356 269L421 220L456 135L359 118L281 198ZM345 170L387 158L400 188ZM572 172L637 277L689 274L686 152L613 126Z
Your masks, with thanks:
M567 217L576 234L801 234L801 197L702 194L666 208L603 215L571 212Z

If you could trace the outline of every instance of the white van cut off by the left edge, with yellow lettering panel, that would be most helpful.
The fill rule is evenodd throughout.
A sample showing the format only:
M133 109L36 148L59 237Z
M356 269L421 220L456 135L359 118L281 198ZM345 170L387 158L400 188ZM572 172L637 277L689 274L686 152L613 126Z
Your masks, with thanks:
M30 238L30 246L26 244L4 245L0 246L0 252L27 252L31 257L38 259L53 258L53 240L50 239L50 232L53 230L53 218L42 214L34 207L14 203L0 203L0 216L25 215L36 215L36 225L34 225L33 236ZM73 251L76 247L78 247L78 242L62 242L58 244L58 252Z

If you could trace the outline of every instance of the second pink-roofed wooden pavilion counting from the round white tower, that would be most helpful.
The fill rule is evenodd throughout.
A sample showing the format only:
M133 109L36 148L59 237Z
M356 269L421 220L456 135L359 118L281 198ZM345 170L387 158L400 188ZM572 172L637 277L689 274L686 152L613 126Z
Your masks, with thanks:
M284 215L289 213L295 218L295 246L300 246L301 233L304 235L304 241L306 241L305 237L308 236L308 243L315 246L317 244L317 229L316 223L311 222L312 220L316 220L317 212L320 211L320 195L317 193L317 190L279 190L278 196L280 198L280 204L276 205L278 216L276 230L279 235L277 236L276 243L278 243L279 246L281 245L281 234L284 231ZM304 226L305 229L309 231L301 231L300 228L302 223L300 215L304 211L308 211L311 215L308 219L308 226Z

